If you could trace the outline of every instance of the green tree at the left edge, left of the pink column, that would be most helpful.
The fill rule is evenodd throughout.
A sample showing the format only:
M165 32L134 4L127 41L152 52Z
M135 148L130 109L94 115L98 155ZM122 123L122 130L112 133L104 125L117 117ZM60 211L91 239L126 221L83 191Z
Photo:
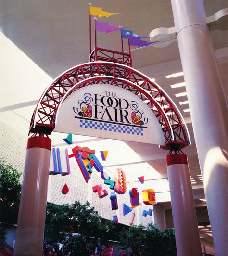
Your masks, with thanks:
M21 173L0 159L0 243L5 242L6 227L16 224L21 195Z

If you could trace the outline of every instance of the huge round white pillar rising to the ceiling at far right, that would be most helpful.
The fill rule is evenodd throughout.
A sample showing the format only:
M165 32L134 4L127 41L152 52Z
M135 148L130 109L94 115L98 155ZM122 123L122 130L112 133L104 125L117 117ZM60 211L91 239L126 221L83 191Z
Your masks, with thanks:
M228 111L203 0L171 0L216 256L228 255Z

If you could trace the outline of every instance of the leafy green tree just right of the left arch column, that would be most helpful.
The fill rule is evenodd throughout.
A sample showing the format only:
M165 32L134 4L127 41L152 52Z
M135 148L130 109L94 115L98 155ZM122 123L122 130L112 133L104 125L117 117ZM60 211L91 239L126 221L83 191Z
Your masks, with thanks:
M99 213L89 202L47 205L44 238L53 247L56 243L63 244L59 255L71 252L73 255L89 256L96 248L101 250L101 245L107 245L114 231L112 221L101 221Z

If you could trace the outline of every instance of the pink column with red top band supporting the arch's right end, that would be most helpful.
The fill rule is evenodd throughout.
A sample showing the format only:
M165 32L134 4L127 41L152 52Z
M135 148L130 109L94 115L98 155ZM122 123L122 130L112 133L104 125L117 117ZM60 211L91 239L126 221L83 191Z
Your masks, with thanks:
M166 156L178 256L202 256L186 154Z

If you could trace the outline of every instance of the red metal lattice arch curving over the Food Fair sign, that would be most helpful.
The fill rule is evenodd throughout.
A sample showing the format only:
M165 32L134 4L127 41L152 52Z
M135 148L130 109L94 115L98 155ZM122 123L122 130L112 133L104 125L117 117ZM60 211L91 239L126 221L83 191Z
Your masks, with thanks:
M91 62L75 66L57 77L41 96L30 124L30 133L51 134L60 104L75 90L105 83L136 94L156 116L165 137L165 149L190 144L187 127L177 106L149 77L130 66L113 62Z

